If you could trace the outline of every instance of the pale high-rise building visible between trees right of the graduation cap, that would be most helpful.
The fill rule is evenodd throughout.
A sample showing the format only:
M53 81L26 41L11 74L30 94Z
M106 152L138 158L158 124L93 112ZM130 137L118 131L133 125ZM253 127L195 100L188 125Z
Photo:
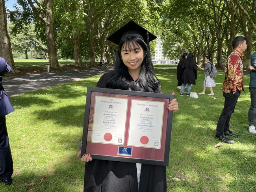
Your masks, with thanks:
M154 64L174 64L176 61L164 57L161 39L157 38L156 41L155 55L152 57L152 62Z

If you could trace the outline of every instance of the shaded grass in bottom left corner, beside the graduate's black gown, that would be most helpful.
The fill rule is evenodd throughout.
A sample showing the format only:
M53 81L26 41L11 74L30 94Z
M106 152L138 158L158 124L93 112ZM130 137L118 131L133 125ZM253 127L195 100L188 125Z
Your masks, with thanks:
M82 192L84 178L84 163L76 154L60 159L52 164L50 170L22 171L13 177L11 186L0 184L1 192Z

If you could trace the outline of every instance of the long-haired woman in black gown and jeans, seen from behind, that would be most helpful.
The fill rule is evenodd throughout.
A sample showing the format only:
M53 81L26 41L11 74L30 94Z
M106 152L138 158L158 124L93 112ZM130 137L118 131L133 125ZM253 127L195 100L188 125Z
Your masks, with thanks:
M183 96L183 92L185 90L185 86L187 85L187 96L189 96L191 85L196 84L197 79L197 64L194 60L193 53L189 53L187 55L186 61L182 64L181 68L184 69L183 75L182 75L182 88L180 91L180 96Z

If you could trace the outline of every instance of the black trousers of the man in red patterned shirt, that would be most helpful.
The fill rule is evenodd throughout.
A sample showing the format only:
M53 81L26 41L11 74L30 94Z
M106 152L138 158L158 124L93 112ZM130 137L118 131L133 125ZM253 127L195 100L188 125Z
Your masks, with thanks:
M233 94L233 92L230 93L224 93L223 96L225 98L224 101L224 108L222 110L221 116L219 117L219 121L216 127L216 136L223 135L224 132L229 130L229 121L231 114L234 113L237 100L240 96L239 90L236 91L236 93Z

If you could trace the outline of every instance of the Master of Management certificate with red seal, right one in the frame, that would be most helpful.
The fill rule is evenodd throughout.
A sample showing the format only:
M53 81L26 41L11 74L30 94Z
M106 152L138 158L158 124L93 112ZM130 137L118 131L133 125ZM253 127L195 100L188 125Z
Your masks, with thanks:
M164 104L132 100L128 146L160 149Z

